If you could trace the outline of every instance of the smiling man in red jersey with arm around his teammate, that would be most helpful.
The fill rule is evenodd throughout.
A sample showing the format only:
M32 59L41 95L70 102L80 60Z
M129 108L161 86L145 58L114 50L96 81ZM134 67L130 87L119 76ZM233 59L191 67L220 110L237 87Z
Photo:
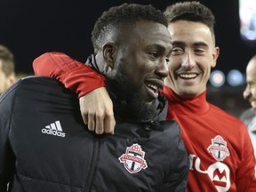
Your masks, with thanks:
M166 118L180 123L189 154L187 191L256 191L255 158L244 123L206 100L206 84L220 53L214 15L199 2L172 4L164 15L172 37L163 92L169 103ZM34 63L34 70L79 94L84 123L92 132L114 132L112 103L100 74L92 75L82 63L71 68Z

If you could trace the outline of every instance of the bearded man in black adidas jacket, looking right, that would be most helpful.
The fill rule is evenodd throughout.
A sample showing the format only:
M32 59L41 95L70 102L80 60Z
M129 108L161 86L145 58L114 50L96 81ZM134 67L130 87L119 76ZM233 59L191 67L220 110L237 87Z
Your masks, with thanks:
M86 63L106 77L115 135L88 131L77 96L56 80L23 78L0 98L1 192L185 191L188 154L158 92L172 49L163 13L112 7L97 20L92 43ZM35 62L79 63L60 52Z

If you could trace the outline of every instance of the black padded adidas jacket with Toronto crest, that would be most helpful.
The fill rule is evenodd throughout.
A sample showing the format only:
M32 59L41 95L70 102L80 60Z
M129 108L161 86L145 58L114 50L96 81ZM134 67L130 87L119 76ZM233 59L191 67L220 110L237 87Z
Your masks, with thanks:
M0 98L0 191L185 191L188 155L173 121L88 132L76 94L48 77L19 80Z

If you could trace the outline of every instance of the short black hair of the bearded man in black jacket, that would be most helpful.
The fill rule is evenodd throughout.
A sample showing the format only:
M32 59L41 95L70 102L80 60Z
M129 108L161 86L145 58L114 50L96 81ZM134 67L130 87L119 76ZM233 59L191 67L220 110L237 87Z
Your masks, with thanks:
M167 20L163 12L157 10L153 5L121 4L109 8L103 12L96 21L92 30L92 44L94 49L97 44L102 44L108 34L115 28L123 28L127 24L135 24L139 20L158 22L167 27Z

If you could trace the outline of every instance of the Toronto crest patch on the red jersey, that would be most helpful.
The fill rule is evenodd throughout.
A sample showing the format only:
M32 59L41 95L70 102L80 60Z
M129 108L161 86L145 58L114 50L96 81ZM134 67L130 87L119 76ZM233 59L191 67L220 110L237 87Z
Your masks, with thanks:
M210 145L207 149L209 153L212 153L212 156L217 161L223 161L227 156L229 156L227 141L223 140L220 135L217 135L212 139L212 145Z

